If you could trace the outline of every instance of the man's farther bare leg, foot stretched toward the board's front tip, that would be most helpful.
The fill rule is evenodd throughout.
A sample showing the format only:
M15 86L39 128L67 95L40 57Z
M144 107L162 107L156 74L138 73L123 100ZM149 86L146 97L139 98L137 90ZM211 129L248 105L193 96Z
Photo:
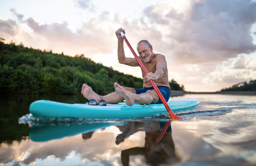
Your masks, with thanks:
M136 94L136 91L134 88L127 88L124 86L121 86L121 87L128 92ZM95 92L93 92L92 88L85 83L82 86L81 94L83 94L84 97L87 98L88 100L91 100L91 99L96 100L97 103L99 102L99 100L105 100L106 103L108 103L108 104L117 104L117 103L120 103L124 99L124 97L122 95L117 94L116 92L107 94L106 96L101 96L99 94L96 94Z

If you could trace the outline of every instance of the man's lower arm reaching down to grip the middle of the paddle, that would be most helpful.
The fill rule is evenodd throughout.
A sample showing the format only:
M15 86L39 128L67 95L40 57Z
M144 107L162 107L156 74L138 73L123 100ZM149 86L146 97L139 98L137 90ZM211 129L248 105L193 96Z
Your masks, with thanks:
M159 78L161 78L164 74L164 70L166 69L166 66L167 66L167 63L166 63L166 59L165 59L165 56L163 55L157 55L156 57L156 72L155 73L148 73L145 77L143 77L144 80L153 80L153 81L156 81L158 80Z

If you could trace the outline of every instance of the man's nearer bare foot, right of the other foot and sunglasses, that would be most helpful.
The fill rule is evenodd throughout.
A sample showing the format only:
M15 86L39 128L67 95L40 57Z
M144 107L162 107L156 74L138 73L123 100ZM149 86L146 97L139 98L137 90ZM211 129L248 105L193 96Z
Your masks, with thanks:
M123 86L120 86L118 83L114 83L115 89L116 89L116 93L122 95L125 98L125 103L128 106L132 106L135 103L135 99L134 99L134 94L129 92L129 91L125 91L123 89Z

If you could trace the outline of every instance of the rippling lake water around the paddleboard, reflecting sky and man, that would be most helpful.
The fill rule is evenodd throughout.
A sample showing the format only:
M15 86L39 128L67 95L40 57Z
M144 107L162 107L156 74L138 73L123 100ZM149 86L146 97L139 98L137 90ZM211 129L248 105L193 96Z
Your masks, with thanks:
M93 121L38 120L29 115L29 105L35 100L86 103L81 95L0 96L0 164L256 165L255 95L186 94L180 97L198 98L201 106L175 113L182 118L178 121L169 121L168 114ZM160 133L163 136L156 141Z

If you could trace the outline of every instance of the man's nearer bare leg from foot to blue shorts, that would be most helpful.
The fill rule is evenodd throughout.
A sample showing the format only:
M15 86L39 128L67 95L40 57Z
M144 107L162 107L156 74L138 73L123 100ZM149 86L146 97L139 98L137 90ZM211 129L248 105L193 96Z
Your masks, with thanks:
M132 106L135 103L138 104L150 104L157 103L159 97L155 90L148 90L146 93L142 94L134 94L132 92L126 91L122 86L118 83L115 83L116 93L122 95L125 98L125 103L128 106Z

